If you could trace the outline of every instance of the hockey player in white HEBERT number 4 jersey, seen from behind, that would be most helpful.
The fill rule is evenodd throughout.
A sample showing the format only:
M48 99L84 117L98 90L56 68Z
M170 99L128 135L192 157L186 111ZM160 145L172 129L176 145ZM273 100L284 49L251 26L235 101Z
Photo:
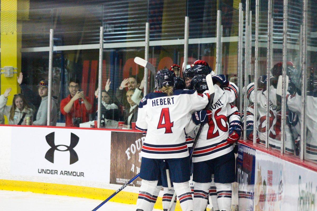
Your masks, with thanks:
M152 208L152 196L165 163L169 166L171 182L178 195L183 211L194 210L189 187L189 153L184 136L184 127L191 120L191 113L204 109L209 95L197 95L193 90L173 91L174 74L158 71L155 77L156 92L145 96L139 105L136 128L147 132L141 156L142 178L137 201L137 211ZM189 106L182 106L182 105Z

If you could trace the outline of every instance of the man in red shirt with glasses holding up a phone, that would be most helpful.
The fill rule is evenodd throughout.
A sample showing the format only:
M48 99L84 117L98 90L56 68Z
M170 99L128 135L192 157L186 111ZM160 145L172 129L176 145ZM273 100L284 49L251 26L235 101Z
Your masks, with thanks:
M83 91L79 91L79 81L70 79L70 94L61 100L61 113L66 118L66 127L79 127L82 122L89 121L88 114L93 112L92 104Z

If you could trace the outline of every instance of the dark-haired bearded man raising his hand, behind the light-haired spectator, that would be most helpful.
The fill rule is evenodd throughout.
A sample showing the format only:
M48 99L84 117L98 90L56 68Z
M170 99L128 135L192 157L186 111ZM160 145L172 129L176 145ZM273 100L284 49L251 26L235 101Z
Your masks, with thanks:
M137 76L130 75L129 78L125 78L119 88L116 91L116 98L126 108L129 107L129 103L126 100L126 87L128 90L136 89L140 86Z

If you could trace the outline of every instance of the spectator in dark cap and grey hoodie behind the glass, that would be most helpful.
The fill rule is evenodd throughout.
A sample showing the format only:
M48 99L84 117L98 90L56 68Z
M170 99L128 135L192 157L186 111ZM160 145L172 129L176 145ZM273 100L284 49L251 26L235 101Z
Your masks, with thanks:
M37 110L36 121L32 122L31 125L47 125L47 104L49 102L49 82L47 80L42 80L36 86L38 88L38 94L42 98L41 104ZM51 126L56 126L57 121L57 100L56 97L51 98ZM24 119L26 123L26 119Z

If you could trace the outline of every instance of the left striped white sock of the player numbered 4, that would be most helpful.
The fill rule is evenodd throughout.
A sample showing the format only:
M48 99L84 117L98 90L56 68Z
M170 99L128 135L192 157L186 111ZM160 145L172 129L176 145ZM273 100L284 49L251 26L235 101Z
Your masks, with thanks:
M152 211L159 193L158 189L162 186L157 186L158 181L148 181L142 179L137 200L137 209L143 211ZM156 194L156 195L155 195Z

